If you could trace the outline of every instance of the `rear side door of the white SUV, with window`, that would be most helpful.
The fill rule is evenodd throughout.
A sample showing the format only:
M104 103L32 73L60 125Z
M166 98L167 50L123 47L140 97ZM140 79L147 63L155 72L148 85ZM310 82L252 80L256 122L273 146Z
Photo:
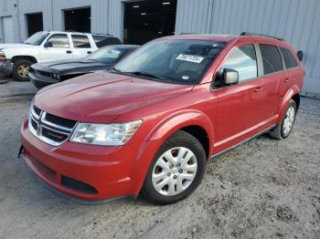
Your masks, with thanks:
M83 58L94 51L89 37L86 35L71 34L73 58Z

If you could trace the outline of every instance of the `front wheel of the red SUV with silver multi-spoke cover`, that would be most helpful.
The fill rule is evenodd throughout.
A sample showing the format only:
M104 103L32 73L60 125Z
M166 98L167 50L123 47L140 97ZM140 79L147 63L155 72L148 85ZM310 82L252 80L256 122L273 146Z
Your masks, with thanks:
M176 159L176 166L167 160L166 155L168 154L165 153L171 153L170 155L173 156L171 161ZM182 158L185 160L180 161L181 165L179 165L179 155L183 155ZM164 168L159 166L164 165L163 162L165 162ZM142 195L147 201L156 204L176 203L197 188L205 173L206 163L207 156L201 143L187 132L178 130L168 140L165 140L165 143L156 152L144 179ZM173 168L170 169L169 165ZM161 177L164 180L161 179L158 182L158 175L165 175ZM164 182L168 183L158 186ZM158 189L155 189L155 185Z

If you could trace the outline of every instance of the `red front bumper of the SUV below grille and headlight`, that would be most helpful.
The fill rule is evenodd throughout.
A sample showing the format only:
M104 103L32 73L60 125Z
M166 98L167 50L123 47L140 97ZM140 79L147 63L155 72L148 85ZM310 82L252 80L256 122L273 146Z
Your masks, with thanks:
M137 196L158 147L156 141L148 142L147 148L144 142L103 147L70 141L54 147L31 134L27 120L21 140L24 160L42 182L87 203Z

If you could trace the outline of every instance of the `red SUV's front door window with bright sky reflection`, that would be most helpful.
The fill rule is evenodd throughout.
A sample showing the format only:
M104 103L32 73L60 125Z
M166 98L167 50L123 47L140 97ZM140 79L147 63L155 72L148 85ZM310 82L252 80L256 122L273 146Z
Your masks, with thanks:
M257 78L257 57L253 45L234 48L222 68L237 70L239 72L239 81Z

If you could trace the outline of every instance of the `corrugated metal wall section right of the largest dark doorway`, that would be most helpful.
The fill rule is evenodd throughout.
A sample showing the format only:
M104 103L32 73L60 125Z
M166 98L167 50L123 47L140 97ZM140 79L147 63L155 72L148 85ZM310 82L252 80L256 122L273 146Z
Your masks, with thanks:
M199 4L201 3L201 4ZM258 32L304 51L304 93L320 96L319 0L180 0L176 34Z

